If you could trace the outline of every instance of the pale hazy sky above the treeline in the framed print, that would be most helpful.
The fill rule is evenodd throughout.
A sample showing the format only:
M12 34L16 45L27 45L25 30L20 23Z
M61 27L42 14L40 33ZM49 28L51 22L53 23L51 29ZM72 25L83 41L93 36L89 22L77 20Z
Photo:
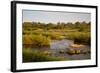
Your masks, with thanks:
M23 10L23 22L76 22L91 21L90 13Z

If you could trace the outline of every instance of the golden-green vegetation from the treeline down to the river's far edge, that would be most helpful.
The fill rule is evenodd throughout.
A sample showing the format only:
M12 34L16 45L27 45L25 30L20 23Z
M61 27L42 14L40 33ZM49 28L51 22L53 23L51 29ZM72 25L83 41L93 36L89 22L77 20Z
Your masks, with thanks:
M71 39L75 43L90 45L90 22L76 23L23 23L23 44L49 46L50 40Z

